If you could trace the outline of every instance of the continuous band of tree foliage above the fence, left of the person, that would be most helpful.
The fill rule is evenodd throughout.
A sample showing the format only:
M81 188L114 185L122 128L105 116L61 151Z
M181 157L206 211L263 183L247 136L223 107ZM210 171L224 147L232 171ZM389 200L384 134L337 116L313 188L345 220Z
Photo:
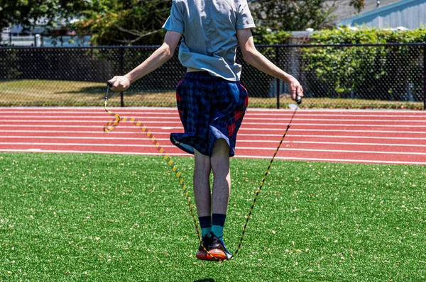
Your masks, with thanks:
M80 18L73 25L80 35L93 35L94 45L156 45L170 14L170 0L0 0L0 29L35 23L55 28Z

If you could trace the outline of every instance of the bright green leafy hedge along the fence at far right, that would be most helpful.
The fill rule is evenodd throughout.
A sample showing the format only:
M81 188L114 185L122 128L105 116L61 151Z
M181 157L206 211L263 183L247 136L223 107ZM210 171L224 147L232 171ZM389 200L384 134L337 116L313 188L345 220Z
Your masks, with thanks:
M302 48L302 71L306 75L307 92L312 96L395 101L422 99L425 45L395 43L425 43L425 28L322 30L312 34L310 40L312 45L346 45Z

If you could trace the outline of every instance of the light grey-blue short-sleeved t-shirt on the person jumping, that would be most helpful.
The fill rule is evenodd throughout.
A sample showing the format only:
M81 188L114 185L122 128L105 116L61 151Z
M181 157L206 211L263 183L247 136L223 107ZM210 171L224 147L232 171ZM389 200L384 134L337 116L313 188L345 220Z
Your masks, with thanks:
M236 30L254 28L246 0L173 0L163 28L182 34L179 60L214 77L239 81Z

